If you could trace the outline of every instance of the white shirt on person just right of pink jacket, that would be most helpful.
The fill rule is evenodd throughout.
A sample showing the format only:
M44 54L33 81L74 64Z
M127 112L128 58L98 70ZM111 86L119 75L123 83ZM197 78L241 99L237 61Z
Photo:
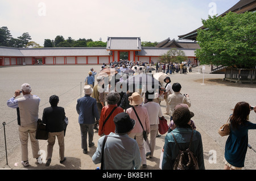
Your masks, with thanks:
M150 125L159 124L159 117L163 116L160 105L155 102L147 102L143 104L143 107L147 108Z

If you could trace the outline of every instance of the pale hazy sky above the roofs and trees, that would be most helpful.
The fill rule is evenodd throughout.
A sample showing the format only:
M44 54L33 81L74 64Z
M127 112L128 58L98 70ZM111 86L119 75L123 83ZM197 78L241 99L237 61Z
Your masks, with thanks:
M0 27L31 41L141 37L160 42L201 27L201 19L222 14L239 0L1 0Z

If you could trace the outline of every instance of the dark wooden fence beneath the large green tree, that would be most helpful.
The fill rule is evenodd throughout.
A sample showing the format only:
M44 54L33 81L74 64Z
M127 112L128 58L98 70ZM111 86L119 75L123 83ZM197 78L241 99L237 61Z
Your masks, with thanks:
M256 83L256 69L226 68L224 80L236 83Z

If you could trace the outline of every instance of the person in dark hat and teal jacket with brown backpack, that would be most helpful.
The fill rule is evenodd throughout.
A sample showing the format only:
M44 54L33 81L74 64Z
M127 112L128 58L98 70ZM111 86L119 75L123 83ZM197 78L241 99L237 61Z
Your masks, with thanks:
M180 107L174 111L174 123L177 128L172 132L167 133L164 138L163 170L172 170L180 150L186 150L188 148L193 152L193 154L195 154L199 170L205 170L201 134L200 132L193 130L188 124L190 119L191 112L188 108ZM189 144L190 141L191 144Z

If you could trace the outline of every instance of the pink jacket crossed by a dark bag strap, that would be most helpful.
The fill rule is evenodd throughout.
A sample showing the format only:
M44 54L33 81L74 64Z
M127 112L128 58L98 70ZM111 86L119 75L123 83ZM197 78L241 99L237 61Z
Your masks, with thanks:
M139 119L141 120L144 131L146 131L147 133L150 133L150 120L149 120L149 116L148 116L148 113L147 113L147 108L142 107L141 105L134 106L134 108L135 108L135 110L136 110L136 112L139 116ZM141 133L141 132L143 132L141 124L139 124L139 120L138 120L135 112L133 111L133 107L128 108L126 110L126 112L129 114L131 119L134 119L136 121L135 127L133 128L131 133Z

